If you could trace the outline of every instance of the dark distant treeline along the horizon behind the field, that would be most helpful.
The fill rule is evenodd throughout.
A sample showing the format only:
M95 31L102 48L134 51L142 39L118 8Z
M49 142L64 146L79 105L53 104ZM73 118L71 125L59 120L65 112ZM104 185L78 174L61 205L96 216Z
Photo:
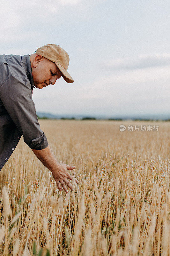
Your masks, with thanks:
M37 116L38 119L61 119L61 120L76 120L75 117L61 117L61 118L48 118L46 116ZM130 118L131 120L133 121L170 121L170 119L166 119L166 120L161 120L161 119L149 119L149 118ZM87 116L87 117L83 117L83 118L79 118L77 120L109 120L109 121L124 121L124 120L127 120L127 119L123 119L123 118L96 118L96 117L90 117L90 116Z

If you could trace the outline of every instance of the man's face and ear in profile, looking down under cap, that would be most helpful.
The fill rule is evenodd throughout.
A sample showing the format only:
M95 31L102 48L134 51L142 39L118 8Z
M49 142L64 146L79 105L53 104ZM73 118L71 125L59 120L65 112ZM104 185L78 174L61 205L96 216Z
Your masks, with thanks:
M49 84L54 85L56 80L62 76L61 71L51 60L48 60L41 55L35 55L32 66L32 75L35 87L42 89Z

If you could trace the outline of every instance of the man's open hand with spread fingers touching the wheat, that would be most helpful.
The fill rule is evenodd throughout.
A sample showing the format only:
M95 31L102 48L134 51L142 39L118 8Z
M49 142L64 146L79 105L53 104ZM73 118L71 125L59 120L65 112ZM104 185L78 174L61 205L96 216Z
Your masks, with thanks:
M61 190L61 185L62 185L63 189L67 193L68 189L65 185L65 183L66 183L67 186L73 191L73 187L72 187L70 181L67 179L73 180L74 177L72 175L70 175L67 172L67 170L73 170L74 168L75 168L75 166L70 166L68 164L59 164L56 167L56 169L52 171L53 178L55 179L59 190ZM75 179L75 181L76 181L76 183L79 183L79 181L77 179Z

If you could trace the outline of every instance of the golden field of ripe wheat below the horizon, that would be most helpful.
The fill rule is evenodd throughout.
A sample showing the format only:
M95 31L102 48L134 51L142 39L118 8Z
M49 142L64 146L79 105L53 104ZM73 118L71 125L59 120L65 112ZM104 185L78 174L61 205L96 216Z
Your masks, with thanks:
M0 172L0 255L170 255L170 123L40 120L74 191L23 137ZM120 132L120 124L159 125Z

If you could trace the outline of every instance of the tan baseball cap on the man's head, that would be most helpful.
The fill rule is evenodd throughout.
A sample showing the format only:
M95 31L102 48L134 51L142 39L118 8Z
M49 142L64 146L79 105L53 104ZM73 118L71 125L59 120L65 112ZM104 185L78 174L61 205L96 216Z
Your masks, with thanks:
M46 44L38 48L35 52L41 54L48 60L55 62L57 68L60 69L63 74L63 78L67 83L74 82L73 78L68 73L67 69L69 66L69 55L59 44Z

